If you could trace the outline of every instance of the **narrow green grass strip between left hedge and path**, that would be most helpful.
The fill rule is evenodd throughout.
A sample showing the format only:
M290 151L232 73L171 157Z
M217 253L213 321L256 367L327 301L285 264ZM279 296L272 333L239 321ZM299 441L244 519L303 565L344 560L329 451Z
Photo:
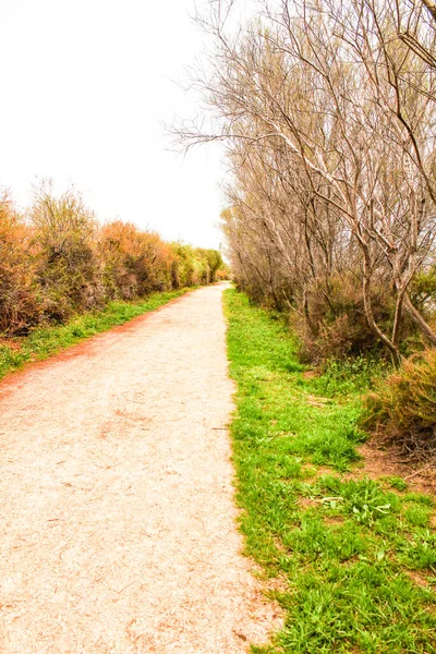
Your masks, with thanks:
M0 344L0 379L31 361L43 361L90 336L123 325L167 304L192 289L153 293L135 302L110 302L105 308L76 316L66 325L38 328L20 339L17 349Z

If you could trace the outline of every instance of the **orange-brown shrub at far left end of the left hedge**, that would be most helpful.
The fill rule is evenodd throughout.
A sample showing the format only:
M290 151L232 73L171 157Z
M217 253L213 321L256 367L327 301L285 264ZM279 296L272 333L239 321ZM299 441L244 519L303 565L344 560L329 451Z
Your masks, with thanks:
M39 319L31 232L8 194L0 198L0 331L24 334Z

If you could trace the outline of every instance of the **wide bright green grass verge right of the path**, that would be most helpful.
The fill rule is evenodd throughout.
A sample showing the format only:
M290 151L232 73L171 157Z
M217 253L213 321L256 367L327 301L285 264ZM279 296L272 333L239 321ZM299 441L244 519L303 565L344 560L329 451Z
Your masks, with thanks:
M281 320L234 290L225 302L241 530L284 610L283 629L252 651L436 652L434 504L399 477L362 475L367 366L351 382L343 365L307 378Z

